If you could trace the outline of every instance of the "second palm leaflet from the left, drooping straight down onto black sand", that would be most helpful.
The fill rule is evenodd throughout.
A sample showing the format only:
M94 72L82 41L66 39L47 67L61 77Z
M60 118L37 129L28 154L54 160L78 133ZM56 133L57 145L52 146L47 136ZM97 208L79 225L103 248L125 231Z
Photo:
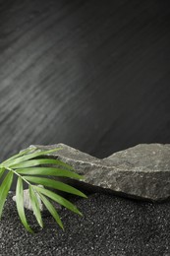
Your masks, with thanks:
M29 232L33 232L33 230L28 225L26 215L25 215L25 208L24 208L24 191L23 191L23 180L22 177L18 178L17 182L17 189L16 189L16 204L17 210L22 221L22 224L26 227Z

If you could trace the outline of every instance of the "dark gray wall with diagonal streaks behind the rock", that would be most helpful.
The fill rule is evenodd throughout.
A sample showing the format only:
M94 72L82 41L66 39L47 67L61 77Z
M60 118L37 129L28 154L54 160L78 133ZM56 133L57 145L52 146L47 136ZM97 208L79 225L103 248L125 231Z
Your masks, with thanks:
M169 1L0 0L0 159L170 143Z

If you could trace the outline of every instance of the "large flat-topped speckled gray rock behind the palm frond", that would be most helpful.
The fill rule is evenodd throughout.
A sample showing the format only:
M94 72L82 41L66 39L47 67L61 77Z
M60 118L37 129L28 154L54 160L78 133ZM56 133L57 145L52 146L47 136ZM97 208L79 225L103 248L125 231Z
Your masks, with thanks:
M84 182L68 183L93 191L151 201L170 197L170 145L141 144L98 160L64 144L30 146L39 150L62 147L50 157L71 164Z

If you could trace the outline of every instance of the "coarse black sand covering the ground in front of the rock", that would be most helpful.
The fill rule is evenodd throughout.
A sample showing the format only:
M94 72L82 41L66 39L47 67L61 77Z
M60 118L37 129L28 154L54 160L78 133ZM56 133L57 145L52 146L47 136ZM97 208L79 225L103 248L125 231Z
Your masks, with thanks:
M0 256L170 255L170 202L152 204L103 194L74 198L84 218L62 209L65 231L49 216L44 216L45 227L40 229L27 211L36 230L32 235L20 223L11 197L0 222Z

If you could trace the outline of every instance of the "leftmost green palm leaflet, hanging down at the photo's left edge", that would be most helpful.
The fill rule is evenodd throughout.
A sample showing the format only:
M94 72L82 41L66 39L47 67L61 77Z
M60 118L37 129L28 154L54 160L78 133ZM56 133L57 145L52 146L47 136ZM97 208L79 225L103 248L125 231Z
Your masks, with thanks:
M9 171L0 186L0 219L2 216L4 204L8 196L8 192L10 190L12 181L13 181L13 172Z

